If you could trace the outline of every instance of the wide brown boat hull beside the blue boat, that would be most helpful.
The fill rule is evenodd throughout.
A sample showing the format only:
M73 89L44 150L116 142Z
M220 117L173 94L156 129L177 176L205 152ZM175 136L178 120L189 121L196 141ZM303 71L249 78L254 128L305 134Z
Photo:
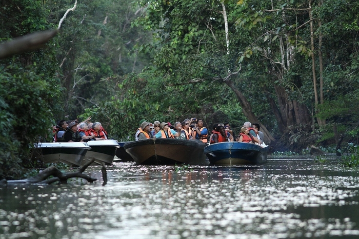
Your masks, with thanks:
M149 138L124 145L136 164L174 165L204 164L203 149L207 144L199 140L178 140L175 138Z

